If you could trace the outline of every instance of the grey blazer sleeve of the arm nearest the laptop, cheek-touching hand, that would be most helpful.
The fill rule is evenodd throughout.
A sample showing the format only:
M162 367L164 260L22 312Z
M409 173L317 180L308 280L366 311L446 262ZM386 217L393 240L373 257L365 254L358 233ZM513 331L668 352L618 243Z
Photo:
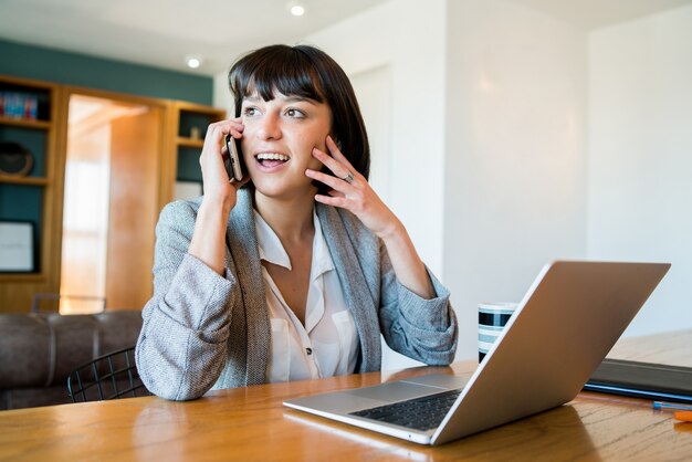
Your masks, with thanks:
M380 242L381 293L379 322L387 345L395 351L430 366L445 366L457 353L457 316L450 293L426 267L434 297L409 291L396 276Z

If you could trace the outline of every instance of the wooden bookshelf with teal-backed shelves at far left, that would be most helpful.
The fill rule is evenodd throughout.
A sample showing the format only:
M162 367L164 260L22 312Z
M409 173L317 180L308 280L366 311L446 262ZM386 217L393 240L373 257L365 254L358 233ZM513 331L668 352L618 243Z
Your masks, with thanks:
M0 144L8 164L14 149L28 153L30 168L19 175L0 172L0 223L30 223L31 267L12 263L14 242L0 238L0 312L25 311L11 301L31 300L57 281L51 272L51 251L59 244L60 223L53 207L56 196L56 108L60 88L45 82L0 76ZM6 165L7 166L7 165ZM6 228L7 229L7 228ZM1 234L0 234L1 235ZM11 240L11 238L10 238ZM25 249L24 249L25 250ZM21 250L22 255L24 250ZM7 253L10 252L10 253Z

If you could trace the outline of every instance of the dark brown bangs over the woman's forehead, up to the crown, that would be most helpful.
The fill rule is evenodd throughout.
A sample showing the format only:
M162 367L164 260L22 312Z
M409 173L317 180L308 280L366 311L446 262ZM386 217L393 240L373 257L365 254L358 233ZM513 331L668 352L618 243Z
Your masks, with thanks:
M308 57L289 46L271 46L241 59L231 70L229 84L237 107L247 96L272 101L276 93L324 103L319 75Z

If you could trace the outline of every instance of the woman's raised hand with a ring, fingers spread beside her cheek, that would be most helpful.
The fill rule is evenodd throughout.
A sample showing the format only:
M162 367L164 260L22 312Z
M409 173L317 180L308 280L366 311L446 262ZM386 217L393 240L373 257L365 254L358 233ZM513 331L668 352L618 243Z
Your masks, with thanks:
M315 200L350 211L379 238L384 239L397 232L401 223L370 188L368 180L356 171L331 136L327 136L326 145L332 156L313 148L313 157L335 176L312 169L305 170L307 177L332 188L329 196L316 195Z

